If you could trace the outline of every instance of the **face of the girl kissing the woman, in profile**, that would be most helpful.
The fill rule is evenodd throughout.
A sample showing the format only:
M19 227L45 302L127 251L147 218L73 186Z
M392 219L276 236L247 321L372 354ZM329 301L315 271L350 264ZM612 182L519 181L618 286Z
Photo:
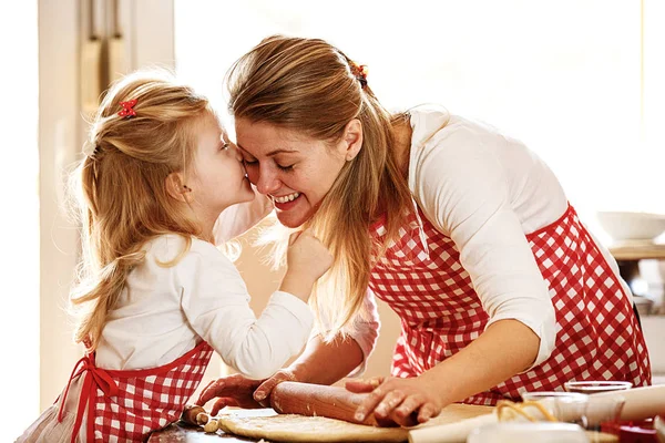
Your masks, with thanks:
M198 215L214 220L228 206L253 200L254 190L245 176L243 157L216 117L205 117L197 128L197 136L187 187Z

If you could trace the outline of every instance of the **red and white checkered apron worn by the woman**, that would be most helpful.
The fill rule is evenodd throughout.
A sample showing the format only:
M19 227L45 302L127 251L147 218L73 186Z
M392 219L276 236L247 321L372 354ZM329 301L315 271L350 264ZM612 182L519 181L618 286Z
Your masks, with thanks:
M385 234L381 222L372 226L375 238ZM555 349L538 367L464 403L519 400L524 391L563 390L570 380L651 384L644 337L628 298L573 207L526 239L556 311ZM393 377L434 367L477 339L489 320L454 243L419 208L371 270L369 287L401 318Z

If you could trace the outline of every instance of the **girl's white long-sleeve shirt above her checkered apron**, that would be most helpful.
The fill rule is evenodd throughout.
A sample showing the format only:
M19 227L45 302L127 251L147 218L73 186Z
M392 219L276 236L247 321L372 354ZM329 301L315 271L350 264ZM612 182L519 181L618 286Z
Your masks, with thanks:
M305 301L276 291L257 319L241 274L209 243L193 239L176 265L160 265L184 245L176 235L146 245L144 262L109 313L96 349L100 368L158 367L205 340L227 364L263 379L303 349L314 323Z

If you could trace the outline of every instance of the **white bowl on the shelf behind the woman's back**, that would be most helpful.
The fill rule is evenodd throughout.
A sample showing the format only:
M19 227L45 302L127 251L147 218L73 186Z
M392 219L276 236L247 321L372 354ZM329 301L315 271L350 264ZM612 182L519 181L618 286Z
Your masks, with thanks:
M653 241L665 231L665 215L600 210L601 227L614 241Z

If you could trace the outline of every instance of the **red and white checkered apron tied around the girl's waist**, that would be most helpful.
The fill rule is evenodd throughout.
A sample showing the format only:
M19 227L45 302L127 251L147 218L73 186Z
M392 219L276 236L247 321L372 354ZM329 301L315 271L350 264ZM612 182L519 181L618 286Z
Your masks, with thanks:
M152 431L177 421L213 354L202 341L168 364L131 371L98 368L94 353L83 357L71 380L85 377L79 399L72 443L86 414L86 442L143 442ZM79 369L80 367L80 369ZM79 369L76 371L76 369ZM85 373L88 372L88 373ZM58 420L62 420L62 405Z

